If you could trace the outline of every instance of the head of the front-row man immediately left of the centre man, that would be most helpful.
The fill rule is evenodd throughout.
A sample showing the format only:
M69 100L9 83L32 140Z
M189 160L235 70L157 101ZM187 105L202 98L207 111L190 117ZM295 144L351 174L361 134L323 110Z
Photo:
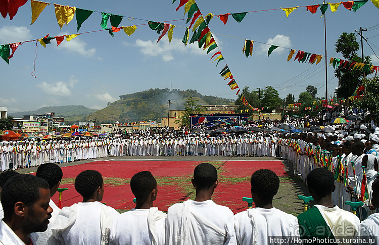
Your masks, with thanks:
M145 202L149 197L154 201L157 197L157 180L150 171L134 174L130 180L130 188L137 202Z

